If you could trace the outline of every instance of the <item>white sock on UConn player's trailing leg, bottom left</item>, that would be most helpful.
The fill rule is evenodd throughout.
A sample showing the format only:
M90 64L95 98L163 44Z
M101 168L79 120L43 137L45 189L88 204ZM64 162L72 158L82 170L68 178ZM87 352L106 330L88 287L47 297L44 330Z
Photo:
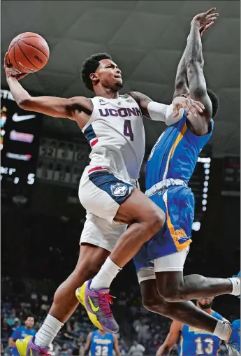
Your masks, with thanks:
M59 330L64 324L48 314L47 318L43 322L43 325L38 330L35 336L35 345L40 348L46 348L50 346L50 343L54 340L54 337L58 334Z

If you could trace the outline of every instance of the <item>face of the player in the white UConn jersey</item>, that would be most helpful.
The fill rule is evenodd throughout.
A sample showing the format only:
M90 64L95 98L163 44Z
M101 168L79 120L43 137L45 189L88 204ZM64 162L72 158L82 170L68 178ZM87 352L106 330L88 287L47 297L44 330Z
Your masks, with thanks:
M100 61L100 65L96 69L96 76L104 87L112 90L120 90L123 86L122 71L110 59Z

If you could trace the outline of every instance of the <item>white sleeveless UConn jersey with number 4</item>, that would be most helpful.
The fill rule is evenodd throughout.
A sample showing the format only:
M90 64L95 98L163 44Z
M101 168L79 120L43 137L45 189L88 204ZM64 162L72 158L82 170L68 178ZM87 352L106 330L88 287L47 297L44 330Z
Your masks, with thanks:
M92 147L90 166L108 168L118 178L135 183L145 153L143 117L129 95L94 97L93 112L82 129Z

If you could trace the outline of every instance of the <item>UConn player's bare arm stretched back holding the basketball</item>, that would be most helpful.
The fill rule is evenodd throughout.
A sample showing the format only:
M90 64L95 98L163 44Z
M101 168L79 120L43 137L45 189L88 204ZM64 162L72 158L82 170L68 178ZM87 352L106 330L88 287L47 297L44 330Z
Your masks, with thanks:
M68 118L75 120L80 128L84 127L92 114L93 104L85 97L59 98L59 97L31 97L24 90L18 80L24 78L26 73L20 73L8 61L8 53L4 59L4 70L10 91L20 108L27 111L36 111L55 118Z

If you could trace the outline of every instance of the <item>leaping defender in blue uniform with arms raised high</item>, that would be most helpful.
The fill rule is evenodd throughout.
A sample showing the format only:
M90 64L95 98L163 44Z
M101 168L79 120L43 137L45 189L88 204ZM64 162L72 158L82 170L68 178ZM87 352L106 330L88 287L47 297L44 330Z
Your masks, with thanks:
M146 194L163 210L166 223L140 248L134 262L143 305L149 311L206 330L240 349L238 327L202 313L190 302L220 294L238 296L240 278L183 276L194 216L194 197L188 183L198 154L212 135L213 118L219 109L217 96L206 87L200 37L217 19L218 14L213 10L193 17L187 48L177 69L174 93L174 97L183 95L200 101L205 110L196 118L184 111L181 120L161 134L149 155Z

